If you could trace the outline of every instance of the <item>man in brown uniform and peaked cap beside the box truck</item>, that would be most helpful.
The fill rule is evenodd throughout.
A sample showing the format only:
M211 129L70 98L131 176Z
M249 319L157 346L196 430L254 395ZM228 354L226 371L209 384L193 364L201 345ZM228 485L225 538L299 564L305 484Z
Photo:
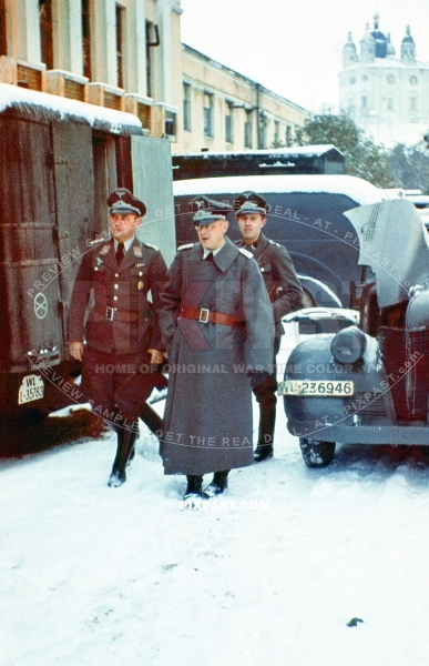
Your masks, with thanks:
M126 481L141 404L153 389L151 370L163 360L157 310L166 265L155 246L135 235L145 204L129 190L118 189L108 205L112 239L90 249L79 268L69 349L82 361L82 391L93 412L118 433L108 484L116 487Z

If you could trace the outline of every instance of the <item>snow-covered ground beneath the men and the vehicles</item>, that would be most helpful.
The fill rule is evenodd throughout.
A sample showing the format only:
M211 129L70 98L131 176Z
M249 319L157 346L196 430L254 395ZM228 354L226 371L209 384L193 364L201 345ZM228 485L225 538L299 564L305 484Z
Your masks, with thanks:
M429 664L418 456L348 446L309 470L279 402L275 458L231 473L226 508L181 511L153 435L120 488L114 450L0 463L1 666Z

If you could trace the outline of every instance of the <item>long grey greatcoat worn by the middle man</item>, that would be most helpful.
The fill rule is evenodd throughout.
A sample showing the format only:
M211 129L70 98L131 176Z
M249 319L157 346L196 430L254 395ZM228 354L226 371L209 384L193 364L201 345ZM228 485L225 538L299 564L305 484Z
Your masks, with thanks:
M249 369L269 372L274 319L259 269L228 239L214 261L181 249L161 294L170 380L160 453L165 474L200 475L253 463ZM241 315L239 326L180 316L181 307Z

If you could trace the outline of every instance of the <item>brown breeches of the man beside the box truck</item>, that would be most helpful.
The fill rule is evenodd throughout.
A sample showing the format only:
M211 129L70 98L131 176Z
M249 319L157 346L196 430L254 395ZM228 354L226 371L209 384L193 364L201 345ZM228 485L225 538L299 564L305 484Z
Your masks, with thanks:
M141 405L152 393L146 354L100 352L86 346L82 363L82 391L99 414L114 430L137 431Z

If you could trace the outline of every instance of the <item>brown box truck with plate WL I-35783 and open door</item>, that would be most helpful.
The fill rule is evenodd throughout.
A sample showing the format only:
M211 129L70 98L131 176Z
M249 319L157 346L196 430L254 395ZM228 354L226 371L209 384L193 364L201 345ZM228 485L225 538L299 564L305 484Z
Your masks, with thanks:
M175 233L170 143L136 115L1 83L0 174L1 423L82 402L69 302L84 252L110 235L109 192L145 201L141 238L167 262Z

